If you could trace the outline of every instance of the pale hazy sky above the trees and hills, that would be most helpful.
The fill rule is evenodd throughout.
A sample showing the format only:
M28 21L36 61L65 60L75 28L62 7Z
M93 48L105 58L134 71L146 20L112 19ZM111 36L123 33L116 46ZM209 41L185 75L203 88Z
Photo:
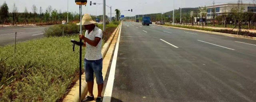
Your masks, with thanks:
M11 12L14 3L18 8L18 12L24 12L25 7L28 12L32 12L32 5L35 4L38 9L42 7L45 12L48 6L52 6L53 9L79 12L79 6L76 5L75 0L0 0L0 5L6 1ZM102 4L90 6L89 2L102 3L103 0L88 0L87 6L82 7L82 14L88 13L91 15L102 15ZM216 2L215 5L225 4L228 2L236 3L237 0L106 0L106 5L112 6L112 16L115 16L115 9L119 9L124 16L135 16L138 14L151 14L151 13L164 13L180 8L194 8L199 6L210 6L212 2ZM244 3L252 3L253 0L243 0ZM182 5L181 5L182 4ZM133 9L133 12L125 11ZM38 10L39 12L39 10ZM110 16L110 8L106 6L106 15Z

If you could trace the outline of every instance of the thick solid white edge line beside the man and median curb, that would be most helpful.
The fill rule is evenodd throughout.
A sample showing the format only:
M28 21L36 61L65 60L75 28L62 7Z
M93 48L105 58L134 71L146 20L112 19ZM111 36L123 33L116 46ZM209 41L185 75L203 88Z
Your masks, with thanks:
M106 89L104 92L104 98L103 98L102 102L110 102L111 101L115 72L116 72L116 59L117 59L117 54L118 54L118 46L119 46L119 40L120 40L120 35L121 35L121 29L122 29L122 26L120 27L119 35L117 38L116 48L114 51L114 55L113 55L113 59L112 59L112 63L111 63L111 67L110 67L110 71L109 71L109 75L108 75L108 82L106 85Z

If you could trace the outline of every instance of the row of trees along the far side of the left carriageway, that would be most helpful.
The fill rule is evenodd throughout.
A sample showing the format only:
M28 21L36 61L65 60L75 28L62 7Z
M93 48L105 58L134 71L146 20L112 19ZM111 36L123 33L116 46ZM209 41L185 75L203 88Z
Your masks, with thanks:
M48 6L45 10L42 7L38 8L35 5L31 8L32 12L28 12L28 8L25 7L24 12L18 12L17 6L14 3L12 11L9 10L8 5L4 2L0 6L0 23L1 24L57 24L62 20L67 20L67 16L70 22L79 21L79 14L77 12L62 12L61 10L53 9L52 6Z

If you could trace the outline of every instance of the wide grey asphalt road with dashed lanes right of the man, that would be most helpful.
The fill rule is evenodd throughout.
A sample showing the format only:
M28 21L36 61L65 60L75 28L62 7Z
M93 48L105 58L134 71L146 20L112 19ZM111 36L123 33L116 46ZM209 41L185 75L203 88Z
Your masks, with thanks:
M118 47L112 102L256 101L255 40L123 22Z

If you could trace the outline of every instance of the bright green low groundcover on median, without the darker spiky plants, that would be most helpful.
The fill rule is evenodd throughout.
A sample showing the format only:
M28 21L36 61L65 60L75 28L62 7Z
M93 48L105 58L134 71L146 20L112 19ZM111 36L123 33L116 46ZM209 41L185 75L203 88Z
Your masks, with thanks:
M21 65L29 60L37 63L27 78L0 90L0 101L54 102L62 98L79 71L79 47L73 52L70 39L78 40L78 35L18 43L15 55L14 45L0 47L0 58L9 57L8 65ZM82 58L84 54L83 48Z

